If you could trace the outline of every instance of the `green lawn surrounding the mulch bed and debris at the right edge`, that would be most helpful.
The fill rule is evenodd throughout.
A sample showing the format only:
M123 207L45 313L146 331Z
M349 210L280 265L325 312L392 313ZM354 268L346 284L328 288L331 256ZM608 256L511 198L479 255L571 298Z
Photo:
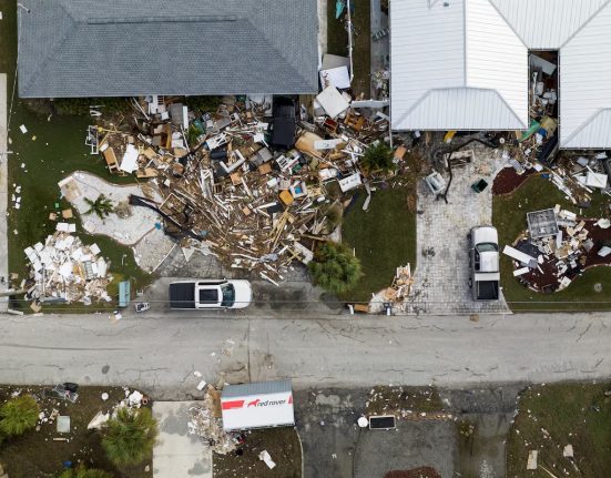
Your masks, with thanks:
M583 215L604 217L608 215L609 197L593 194L592 206L583 210ZM579 213L558 189L541 176L530 177L521 187L508 196L495 196L492 203L492 222L499 230L500 247L512 244L520 232L526 231L526 213L544 210L560 204L562 207ZM512 311L608 311L611 299L605 294L594 292L593 285L611 285L611 267L593 267L578 277L564 291L553 294L541 294L520 285L512 275L511 260L501 254L501 284L505 298ZM607 288L607 287L605 287Z

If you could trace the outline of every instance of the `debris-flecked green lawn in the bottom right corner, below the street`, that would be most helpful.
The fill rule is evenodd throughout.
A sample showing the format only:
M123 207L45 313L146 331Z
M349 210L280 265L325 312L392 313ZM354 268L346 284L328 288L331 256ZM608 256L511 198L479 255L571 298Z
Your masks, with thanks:
M611 397L604 396L610 387L557 384L523 393L507 441L507 477L550 477L541 468L526 469L533 449L539 450L538 464L558 477L611 477ZM562 456L567 445L573 446L578 469Z

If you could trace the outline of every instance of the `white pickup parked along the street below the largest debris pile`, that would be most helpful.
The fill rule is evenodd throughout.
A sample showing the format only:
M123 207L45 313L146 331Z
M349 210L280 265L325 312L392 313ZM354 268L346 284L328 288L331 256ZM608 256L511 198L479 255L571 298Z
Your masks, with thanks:
M244 308L252 299L248 281L197 279L170 284L171 308Z

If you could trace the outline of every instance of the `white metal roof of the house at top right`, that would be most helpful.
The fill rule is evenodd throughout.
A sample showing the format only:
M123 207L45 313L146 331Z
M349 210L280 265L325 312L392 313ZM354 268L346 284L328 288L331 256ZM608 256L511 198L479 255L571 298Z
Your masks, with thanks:
M393 129L526 129L528 50L558 49L560 146L611 148L611 0L394 0L390 9Z

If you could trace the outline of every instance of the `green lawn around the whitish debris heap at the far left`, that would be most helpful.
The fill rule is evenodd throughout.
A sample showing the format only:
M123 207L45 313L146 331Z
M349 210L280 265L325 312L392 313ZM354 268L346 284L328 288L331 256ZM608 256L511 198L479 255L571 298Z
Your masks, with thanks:
M9 103L14 75L16 51L16 3L0 0L2 9L2 30L0 31L0 67L9 77ZM24 124L28 133L21 133ZM33 113L14 96L11 122L9 125L9 271L18 273L20 279L27 276L28 267L23 250L54 232L55 223L48 220L49 213L69 207L60 199L58 182L75 170L89 171L118 183L132 182L133 179L111 176L104 161L99 155L90 155L84 145L86 125L92 124L89 116L41 116ZM35 139L34 139L35 138ZM22 167L23 164L23 167ZM10 203L14 193L13 184L21 186L21 209ZM58 206L55 206L55 204ZM80 220L75 220L78 231L82 231ZM17 234L14 233L17 231ZM151 277L135 265L132 250L122 246L105 236L92 236L79 233L85 243L98 243L102 254L111 261L111 273L118 278L131 278L133 288L141 288ZM125 257L123 257L125 255ZM122 265L123 260L123 265ZM112 292L112 289L111 289ZM13 303L13 307L27 307L28 304ZM82 306L81 306L82 307ZM53 309L65 306L53 306ZM71 306L70 309L78 309ZM88 311L99 308L96 305ZM29 309L29 308L27 308ZM51 306L44 307L51 312Z

